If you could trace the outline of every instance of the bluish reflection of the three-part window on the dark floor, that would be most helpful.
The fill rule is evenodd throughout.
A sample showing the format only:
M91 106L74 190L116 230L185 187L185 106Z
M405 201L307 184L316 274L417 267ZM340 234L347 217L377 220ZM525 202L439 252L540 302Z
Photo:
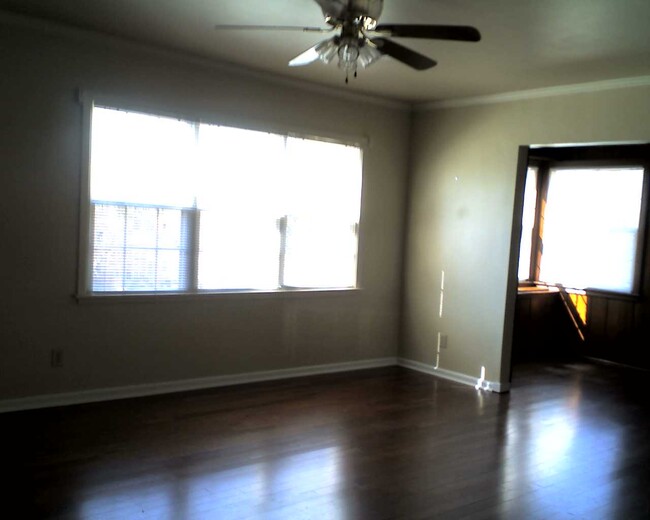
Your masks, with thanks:
M346 520L341 449L330 446L191 477L132 479L88 489L84 519L318 518ZM187 470L185 470L186 472Z

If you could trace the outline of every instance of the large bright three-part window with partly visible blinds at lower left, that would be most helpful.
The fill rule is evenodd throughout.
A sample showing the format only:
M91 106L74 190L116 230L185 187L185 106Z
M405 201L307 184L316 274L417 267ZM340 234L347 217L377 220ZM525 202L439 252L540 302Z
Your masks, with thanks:
M356 286L358 146L100 106L90 135L82 294Z

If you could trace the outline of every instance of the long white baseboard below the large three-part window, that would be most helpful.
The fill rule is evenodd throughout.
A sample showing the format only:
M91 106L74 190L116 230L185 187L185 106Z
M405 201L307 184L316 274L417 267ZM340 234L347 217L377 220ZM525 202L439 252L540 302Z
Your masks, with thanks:
M128 399L132 397L146 397L150 395L185 392L189 390L202 390L220 386L240 385L276 379L289 379L318 374L331 374L335 372L350 372L367 368L379 368L397 365L397 358L385 357L364 359L359 361L346 361L343 363L330 363L325 365L311 365L279 370L261 372L248 372L179 381L166 381L161 383L147 383L142 385L119 386L113 388L98 388L80 392L66 392L58 394L36 395L18 399L0 401L0 413L33 410L37 408L52 408L55 406L68 406L74 404L93 403L98 401L112 401L115 399Z

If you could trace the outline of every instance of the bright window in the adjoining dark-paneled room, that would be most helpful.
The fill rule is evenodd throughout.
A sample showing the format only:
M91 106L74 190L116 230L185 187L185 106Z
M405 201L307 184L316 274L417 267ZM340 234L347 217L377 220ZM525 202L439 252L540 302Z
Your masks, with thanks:
M570 152L528 170L519 278L634 294L646 219L643 161L574 161Z

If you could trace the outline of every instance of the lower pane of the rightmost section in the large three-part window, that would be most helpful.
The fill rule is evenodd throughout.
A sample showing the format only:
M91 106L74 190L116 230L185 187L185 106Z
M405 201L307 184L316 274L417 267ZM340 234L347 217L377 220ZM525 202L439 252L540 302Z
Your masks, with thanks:
M287 219L285 277L288 287L354 287L357 234L340 220Z

